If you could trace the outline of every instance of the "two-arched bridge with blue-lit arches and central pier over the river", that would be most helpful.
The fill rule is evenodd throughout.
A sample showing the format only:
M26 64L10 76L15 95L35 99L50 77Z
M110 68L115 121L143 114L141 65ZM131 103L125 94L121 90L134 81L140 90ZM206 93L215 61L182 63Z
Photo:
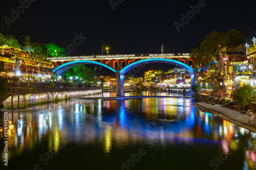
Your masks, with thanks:
M108 68L116 73L116 96L124 95L123 77L125 74L136 73L135 68L140 68L148 63L167 63L187 70L191 75L191 87L194 83L194 69L188 65L189 54L148 54L148 55L112 55L112 56L80 56L48 58L55 65L53 72L61 75L64 71L77 65L96 64ZM117 62L117 64L115 64ZM125 65L122 64L125 62ZM132 71L132 72L131 72Z

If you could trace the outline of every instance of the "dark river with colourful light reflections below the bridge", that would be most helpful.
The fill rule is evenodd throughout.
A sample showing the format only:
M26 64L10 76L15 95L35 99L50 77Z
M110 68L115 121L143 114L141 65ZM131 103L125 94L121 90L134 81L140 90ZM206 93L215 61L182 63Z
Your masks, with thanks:
M191 98L172 98L173 94L165 92L125 95L164 97L71 99L9 110L8 167L3 162L6 137L1 112L1 166L27 170L255 169L255 133L197 110L191 106L197 101Z

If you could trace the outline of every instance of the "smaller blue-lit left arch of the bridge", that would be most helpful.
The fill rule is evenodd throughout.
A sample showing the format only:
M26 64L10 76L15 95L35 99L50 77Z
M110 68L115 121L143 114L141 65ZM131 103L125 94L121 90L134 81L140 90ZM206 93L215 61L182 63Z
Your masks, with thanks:
M61 75L62 72L66 71L69 68L72 68L72 67L77 66L77 65L84 65L84 64L100 65L100 66L106 67L106 68L108 68L108 69L110 69L110 70L112 70L112 71L114 71L116 73L116 70L111 68L108 65L105 65L105 64L102 64L102 63L99 63L99 62L96 62L96 61L89 61L89 60L79 60L79 61L68 62L68 63L62 64L62 65L56 67L53 70L53 72L55 72L55 74L57 74L57 75Z

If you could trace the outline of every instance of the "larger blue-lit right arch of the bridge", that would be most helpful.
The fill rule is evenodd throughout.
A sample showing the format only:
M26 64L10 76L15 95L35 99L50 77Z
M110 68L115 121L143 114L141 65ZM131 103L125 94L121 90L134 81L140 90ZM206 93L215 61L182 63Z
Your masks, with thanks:
M187 70L190 73L191 78L192 78L192 75L193 75L193 78L194 78L194 71L195 70L192 67L190 67L190 66L188 66L188 65L186 65L186 64L184 64L180 61L171 60L171 59L164 59L164 58L151 58L151 59L145 59L145 60L140 60L140 61L134 62L132 64L127 65L123 69L121 69L119 71L120 75L124 76L126 74L126 72L130 71L131 69L133 69L135 67L138 67L140 65L143 65L143 64L148 64L148 63L168 63L168 64L172 64L172 65L177 65L177 66Z

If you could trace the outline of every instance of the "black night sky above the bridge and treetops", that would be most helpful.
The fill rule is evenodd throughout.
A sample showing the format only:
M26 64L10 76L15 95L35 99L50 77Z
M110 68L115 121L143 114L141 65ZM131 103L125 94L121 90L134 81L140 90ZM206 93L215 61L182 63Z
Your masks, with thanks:
M110 55L161 53L162 43L164 53L189 53L206 34L231 28L240 30L249 40L256 36L256 3L252 0L30 1L27 9L20 1L2 2L0 32L20 43L28 35L32 42L55 42L62 48L73 44L75 34L82 36L73 52L67 50L71 56L102 54L102 45L109 46ZM199 4L200 11L195 7ZM199 12L191 13L191 6ZM189 22L183 21L178 32L174 22L182 24L182 14L187 13ZM7 18L13 20L5 21Z

